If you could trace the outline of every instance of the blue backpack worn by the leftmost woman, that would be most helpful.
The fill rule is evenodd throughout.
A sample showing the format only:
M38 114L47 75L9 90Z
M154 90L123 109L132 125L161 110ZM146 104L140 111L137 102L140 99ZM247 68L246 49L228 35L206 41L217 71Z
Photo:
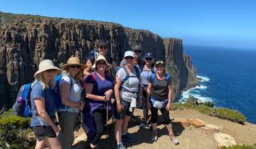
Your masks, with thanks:
M21 117L31 117L31 84L24 84L20 87L16 101L13 106L14 114Z

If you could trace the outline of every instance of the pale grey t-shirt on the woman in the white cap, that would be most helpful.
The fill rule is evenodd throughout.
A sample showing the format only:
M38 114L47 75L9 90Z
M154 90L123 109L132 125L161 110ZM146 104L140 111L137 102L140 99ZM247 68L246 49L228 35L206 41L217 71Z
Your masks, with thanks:
M120 79L121 82L127 77L127 73L125 72L124 67L121 67L117 71L116 76ZM123 82L123 84L121 84L121 86L124 87L124 89L128 92L120 92L121 99L124 99L128 102L132 101L131 97L137 99L137 94L134 93L139 92L139 78L137 78L135 68L133 68L133 72L132 74L129 74L129 76L130 77L125 82Z

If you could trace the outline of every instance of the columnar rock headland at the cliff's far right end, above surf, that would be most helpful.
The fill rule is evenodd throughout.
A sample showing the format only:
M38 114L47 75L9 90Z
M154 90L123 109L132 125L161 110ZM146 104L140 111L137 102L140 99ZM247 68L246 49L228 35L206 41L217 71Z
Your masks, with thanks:
M181 39L164 39L167 70L171 74L174 86L174 100L177 100L184 89L198 84L196 69L191 64L191 57L183 54Z

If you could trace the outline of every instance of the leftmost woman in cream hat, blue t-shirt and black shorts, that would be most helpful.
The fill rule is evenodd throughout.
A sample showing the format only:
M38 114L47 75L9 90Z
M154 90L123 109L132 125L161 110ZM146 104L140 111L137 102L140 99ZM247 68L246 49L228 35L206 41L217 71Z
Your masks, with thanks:
M60 128L55 125L55 99L52 89L54 77L61 70L51 60L43 60L35 73L31 87L31 127L36 136L36 148L61 148L56 134Z

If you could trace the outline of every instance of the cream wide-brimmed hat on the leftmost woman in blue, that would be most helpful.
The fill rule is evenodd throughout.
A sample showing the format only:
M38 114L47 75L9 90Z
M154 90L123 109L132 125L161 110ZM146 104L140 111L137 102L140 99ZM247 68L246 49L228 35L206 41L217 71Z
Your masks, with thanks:
M39 63L39 70L34 74L34 77L36 78L38 74L40 74L41 72L44 72L46 70L57 70L58 73L61 72L60 68L55 67L53 65L53 61L51 61L51 60L42 60Z

